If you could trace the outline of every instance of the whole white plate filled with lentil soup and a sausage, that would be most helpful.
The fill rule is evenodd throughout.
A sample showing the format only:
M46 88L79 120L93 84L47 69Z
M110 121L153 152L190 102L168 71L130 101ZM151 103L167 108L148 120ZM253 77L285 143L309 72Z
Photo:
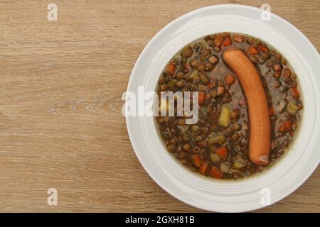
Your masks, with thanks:
M266 206L262 189L274 203L319 164L319 54L287 21L272 14L264 22L260 13L237 5L187 13L150 41L132 72L129 91L142 84L158 94L198 92L196 124L183 116L127 117L145 170L187 204L258 209ZM302 57L305 50L312 59ZM145 76L133 81L138 73ZM138 128L143 139L134 134Z

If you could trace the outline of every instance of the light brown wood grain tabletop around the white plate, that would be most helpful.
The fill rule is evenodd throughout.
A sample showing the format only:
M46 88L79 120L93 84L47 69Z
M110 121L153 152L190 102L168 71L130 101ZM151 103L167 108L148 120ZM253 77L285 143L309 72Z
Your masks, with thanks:
M47 6L58 5L58 21ZM137 160L122 92L146 43L178 16L262 1L0 1L0 211L201 211ZM319 50L320 1L267 1ZM47 190L58 190L48 206ZM319 212L320 169L261 212Z

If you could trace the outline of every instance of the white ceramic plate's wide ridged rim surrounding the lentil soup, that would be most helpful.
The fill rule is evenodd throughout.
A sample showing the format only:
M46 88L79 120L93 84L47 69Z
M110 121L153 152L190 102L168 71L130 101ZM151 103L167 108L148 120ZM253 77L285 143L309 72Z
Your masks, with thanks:
M146 45L132 71L128 90L138 86L154 91L166 63L197 38L223 31L245 33L265 40L287 58L299 78L304 101L301 128L292 148L266 172L236 182L193 174L164 147L153 117L127 116L127 128L139 161L166 192L208 211L240 212L260 209L261 189L271 192L271 204L294 192L319 165L319 53L294 26L274 14L261 21L262 11L250 6L217 5L198 9L169 23Z

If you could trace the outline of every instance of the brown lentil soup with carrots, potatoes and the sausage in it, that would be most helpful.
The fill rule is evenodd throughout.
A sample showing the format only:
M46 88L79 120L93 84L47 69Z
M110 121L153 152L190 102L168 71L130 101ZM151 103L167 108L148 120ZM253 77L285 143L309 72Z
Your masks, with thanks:
M196 124L187 125L185 116L156 117L169 153L198 174L250 177L274 165L297 135L302 99L296 74L281 53L250 35L195 40L170 60L158 84L159 97L198 92Z

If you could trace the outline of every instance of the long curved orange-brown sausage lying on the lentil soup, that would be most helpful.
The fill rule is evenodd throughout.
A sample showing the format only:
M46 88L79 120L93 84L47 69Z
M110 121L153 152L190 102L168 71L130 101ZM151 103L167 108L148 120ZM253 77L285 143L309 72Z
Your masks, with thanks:
M223 52L223 60L237 75L247 98L250 118L249 157L255 165L268 165L270 154L270 116L267 96L260 75L239 48Z

